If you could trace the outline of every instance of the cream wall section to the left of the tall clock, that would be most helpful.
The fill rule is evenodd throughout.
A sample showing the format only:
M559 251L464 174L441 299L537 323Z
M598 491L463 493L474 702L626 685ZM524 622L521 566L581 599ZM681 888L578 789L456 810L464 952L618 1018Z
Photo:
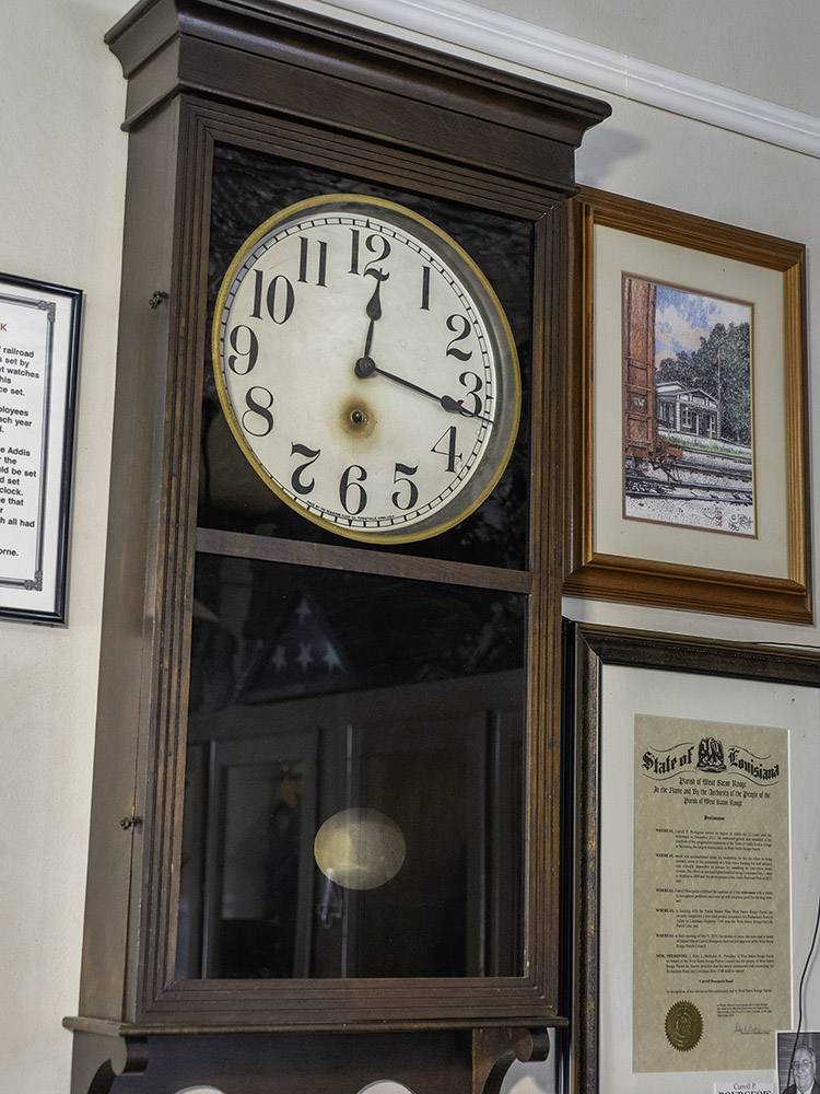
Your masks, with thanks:
M85 291L68 628L0 624L0 1087L68 1091L85 888L126 138L119 0L0 12L0 269Z

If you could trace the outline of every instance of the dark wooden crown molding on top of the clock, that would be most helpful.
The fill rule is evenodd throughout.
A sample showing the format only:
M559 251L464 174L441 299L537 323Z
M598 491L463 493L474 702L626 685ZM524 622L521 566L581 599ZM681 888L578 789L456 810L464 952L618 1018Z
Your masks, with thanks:
M351 26L277 0L142 0L105 36L129 80L126 120L134 128L179 92L282 106L282 86L257 86L253 71L231 63L243 54L303 68L365 91L406 95L408 80L423 86L432 107L558 141L567 150L611 114L609 104ZM221 53L216 53L221 51ZM151 78L147 73L151 72ZM255 98L256 96L256 98ZM304 114L304 104L301 113ZM317 104L327 116L328 103ZM340 126L342 123L340 121ZM350 119L343 124L350 130Z

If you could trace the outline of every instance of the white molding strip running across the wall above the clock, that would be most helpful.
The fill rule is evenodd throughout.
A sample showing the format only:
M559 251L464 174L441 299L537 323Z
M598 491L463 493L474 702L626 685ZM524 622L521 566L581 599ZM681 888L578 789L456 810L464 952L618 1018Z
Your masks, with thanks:
M329 0L323 7L376 20L453 46L560 77L696 121L820 158L820 118L649 65L636 57L548 31L467 0Z

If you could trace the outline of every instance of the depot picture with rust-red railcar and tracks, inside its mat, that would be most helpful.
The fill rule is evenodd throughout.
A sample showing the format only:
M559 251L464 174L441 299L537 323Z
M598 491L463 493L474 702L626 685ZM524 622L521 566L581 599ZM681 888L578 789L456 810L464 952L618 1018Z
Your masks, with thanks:
M752 305L623 276L624 516L755 535Z

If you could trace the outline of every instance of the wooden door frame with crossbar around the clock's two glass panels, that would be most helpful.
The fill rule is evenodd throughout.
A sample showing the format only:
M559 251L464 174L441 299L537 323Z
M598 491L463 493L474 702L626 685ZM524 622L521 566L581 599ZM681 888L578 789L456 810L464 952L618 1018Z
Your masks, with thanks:
M190 102L183 105L180 125L190 127L189 133L197 146L196 172L192 173L191 189L200 195L208 190L214 144L226 142L239 147L271 151L282 154L286 150L283 135L278 126L269 124L266 132L253 129L250 119L242 110L213 110L210 106ZM290 127L289 127L290 128ZM307 130L306 130L307 132ZM290 132L286 135L290 137ZM321 162L324 141L316 141L314 154ZM296 155L295 150L288 150ZM344 160L351 162L362 155L363 149L350 141L344 148ZM403 154L407 170L413 170L414 156ZM429 186L429 184L425 184ZM476 178L472 185L480 185ZM517 195L516 195L517 197ZM537 201L535 195L528 198ZM191 202L186 208L184 225L185 246L190 255L191 266L201 263L207 253L208 237L203 231L198 206ZM537 267L541 269L536 278L535 298L540 300L549 292L546 283L542 256L546 252L546 236L552 230L552 213L539 216L530 207L529 217L534 221L536 254L541 258ZM185 284L185 298L180 300L180 312L188 315L199 311L203 314L202 301L207 289L207 270L197 265L199 280L189 278ZM553 291L558 278L553 282ZM538 321L537 321L538 322ZM188 331L197 329L192 319L172 325L180 334L177 346L179 368L188 370L187 383L169 385L169 398L176 404L174 414L184 415L190 427L198 430L197 397L201 397L204 354L198 339ZM542 350L540 350L542 352ZM549 384L543 381L547 370L539 368L539 348L534 351L534 405L542 405L548 398ZM190 386L189 386L190 385ZM180 392L185 395L180 396ZM189 400L189 401L188 401ZM557 408L553 407L553 411ZM541 418L546 421L546 415ZM387 569L397 577L413 580L435 578L453 584L472 584L475 569L481 569L479 583L488 587L505 590L520 589L529 595L529 645L541 647L543 660L532 655L530 676L532 691L527 711L530 760L525 772L527 819L526 842L531 848L531 861L558 863L558 835L560 830L557 764L550 757L559 755L559 696L558 674L560 670L557 647L560 638L559 605L548 602L547 590L554 587L546 580L546 573L555 567L554 557L539 546L540 535L532 516L532 534L529 545L527 571L502 568L473 568L458 562L415 559L410 556L390 555L384 559L375 552L362 551L356 547L344 548L337 544L303 545L298 542L278 540L268 537L237 536L232 533L196 527L196 472L188 461L196 458L196 442L190 444L192 434L179 434L179 458L186 461L186 485L177 498L168 497L179 504L178 514L172 517L166 528L167 544L164 558L167 560L167 580L163 602L159 607L161 625L166 633L174 635L173 671L157 674L156 723L151 728L152 749L150 763L156 768L147 772L145 782L140 784L137 799L138 814L144 817L147 831L164 828L165 839L143 866L144 899L139 918L140 933L149 940L150 954L147 970L137 984L134 1015L138 1027L150 1032L174 1032L181 1027L197 1025L214 1031L254 1029L338 1029L356 1027L374 1029L388 1026L394 1029L424 1027L470 1028L478 1025L509 1024L509 1019L522 1026L563 1024L565 1017L559 1014L559 946L558 935L558 872L540 873L529 885L525 909L525 950L528 955L526 974L520 977L488 978L405 978L396 980L349 979L323 981L319 979L291 979L253 982L234 979L177 980L176 968L176 915L178 907L178 870L176 863L183 830L181 795L177 780L185 767L187 743L186 701L187 668L190 643L190 616L185 603L192 598L192 572L188 569L194 548L199 552L216 552L226 549L230 537L231 550L242 557L254 557L259 551L265 557L277 557L281 561L304 563L309 558L312 566L326 566L370 571ZM194 434L196 435L196 433ZM557 431L551 434L557 438ZM548 442L549 444L549 442ZM532 444L532 466L538 465L537 445ZM551 463L551 462L550 462ZM550 484L546 476L534 476L537 484L532 489L534 514L540 505L549 512L554 501L548 497ZM553 484L558 488L558 482ZM537 500L538 499L538 500ZM343 554L340 555L340 551ZM365 556L362 558L362 556ZM180 567L189 582L187 592L177 582L174 571ZM553 629L554 628L554 629ZM542 643L542 645L541 645ZM106 679L108 674L106 673ZM548 684L554 679L554 684ZM104 684L104 686L106 686ZM535 848L539 848L538 851ZM525 868L526 869L526 868ZM162 924L162 926L160 926Z

